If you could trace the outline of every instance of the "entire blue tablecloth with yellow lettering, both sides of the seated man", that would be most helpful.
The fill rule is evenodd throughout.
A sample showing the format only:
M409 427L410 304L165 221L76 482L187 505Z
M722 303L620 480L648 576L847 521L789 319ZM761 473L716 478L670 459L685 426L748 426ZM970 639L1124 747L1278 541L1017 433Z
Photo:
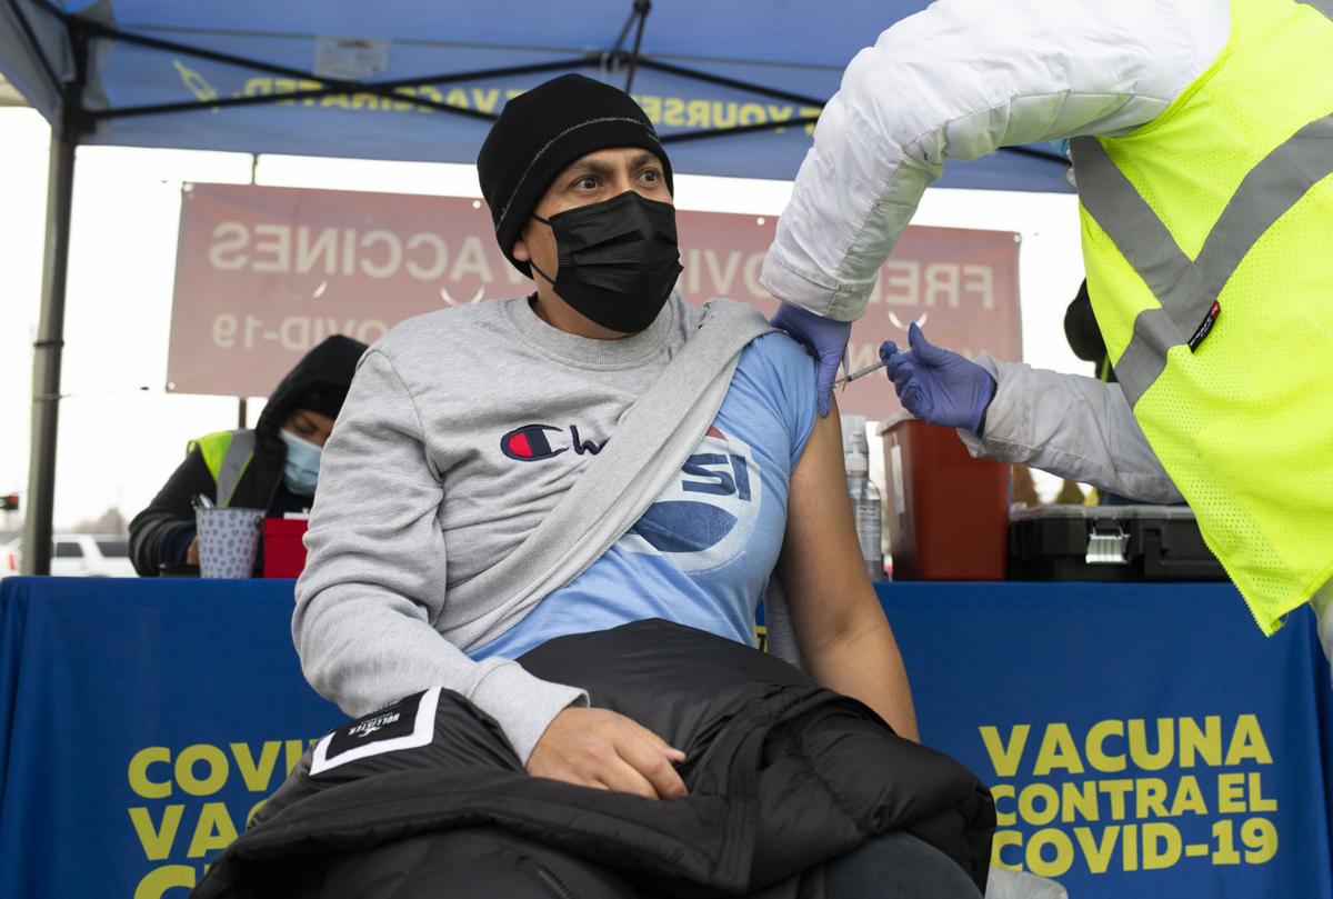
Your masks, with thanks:
M1222 584L885 584L922 740L1077 899L1329 896L1329 674ZM183 899L307 742L292 582L0 580L0 896Z

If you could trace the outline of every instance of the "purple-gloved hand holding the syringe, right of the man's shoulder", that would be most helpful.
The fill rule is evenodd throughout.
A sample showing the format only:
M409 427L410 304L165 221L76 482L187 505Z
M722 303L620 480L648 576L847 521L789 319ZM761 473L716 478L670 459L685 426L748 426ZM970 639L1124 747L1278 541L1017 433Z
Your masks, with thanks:
M980 431L994 396L990 372L958 353L936 347L921 328L908 328L912 348L898 349L892 340L880 345L889 379L908 412L922 421L949 428Z

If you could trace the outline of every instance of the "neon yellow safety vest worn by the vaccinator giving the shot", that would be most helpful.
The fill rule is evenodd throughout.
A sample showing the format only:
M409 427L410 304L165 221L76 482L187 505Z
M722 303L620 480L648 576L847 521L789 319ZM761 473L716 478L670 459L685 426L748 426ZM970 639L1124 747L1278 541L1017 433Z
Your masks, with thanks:
M1116 375L1272 634L1333 578L1333 0L1233 0L1213 65L1073 160Z

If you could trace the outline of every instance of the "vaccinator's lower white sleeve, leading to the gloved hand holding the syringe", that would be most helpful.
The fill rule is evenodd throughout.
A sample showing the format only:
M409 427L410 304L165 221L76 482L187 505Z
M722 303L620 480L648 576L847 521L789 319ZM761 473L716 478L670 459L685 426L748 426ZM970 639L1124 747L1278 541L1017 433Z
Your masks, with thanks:
M984 437L958 436L973 456L1021 462L1146 503L1180 491L1148 444L1120 384L980 356L996 379Z

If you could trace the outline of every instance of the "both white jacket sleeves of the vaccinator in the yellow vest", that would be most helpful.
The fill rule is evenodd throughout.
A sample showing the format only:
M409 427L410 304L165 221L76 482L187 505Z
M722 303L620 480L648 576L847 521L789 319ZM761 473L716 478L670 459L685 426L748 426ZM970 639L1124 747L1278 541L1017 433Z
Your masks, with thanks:
M1157 117L1225 47L1228 0L940 0L848 65L764 260L774 296L858 317L945 160ZM977 360L998 384L973 455L1176 502L1118 384Z

